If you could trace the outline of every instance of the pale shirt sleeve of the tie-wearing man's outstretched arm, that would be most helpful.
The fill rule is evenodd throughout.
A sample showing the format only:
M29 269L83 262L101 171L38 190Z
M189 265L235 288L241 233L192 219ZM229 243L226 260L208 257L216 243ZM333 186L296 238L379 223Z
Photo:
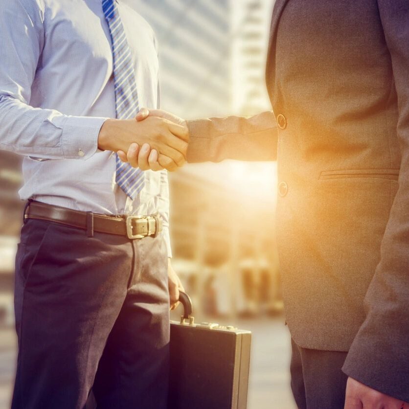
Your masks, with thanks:
M44 45L40 0L0 2L0 149L45 159L87 159L107 118L64 115L29 105Z

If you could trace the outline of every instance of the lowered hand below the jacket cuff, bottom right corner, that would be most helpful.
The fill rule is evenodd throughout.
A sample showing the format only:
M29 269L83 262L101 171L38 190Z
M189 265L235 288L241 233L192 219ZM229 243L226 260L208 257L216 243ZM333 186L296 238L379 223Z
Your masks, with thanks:
M353 378L346 383L344 409L409 409L409 404L378 392Z

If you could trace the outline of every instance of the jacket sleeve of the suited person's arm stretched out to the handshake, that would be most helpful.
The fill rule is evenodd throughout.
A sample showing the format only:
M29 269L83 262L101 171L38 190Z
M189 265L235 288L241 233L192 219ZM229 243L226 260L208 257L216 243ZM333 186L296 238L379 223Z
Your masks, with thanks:
M187 126L190 163L276 159L277 128L271 111L249 117L196 119L187 121Z

